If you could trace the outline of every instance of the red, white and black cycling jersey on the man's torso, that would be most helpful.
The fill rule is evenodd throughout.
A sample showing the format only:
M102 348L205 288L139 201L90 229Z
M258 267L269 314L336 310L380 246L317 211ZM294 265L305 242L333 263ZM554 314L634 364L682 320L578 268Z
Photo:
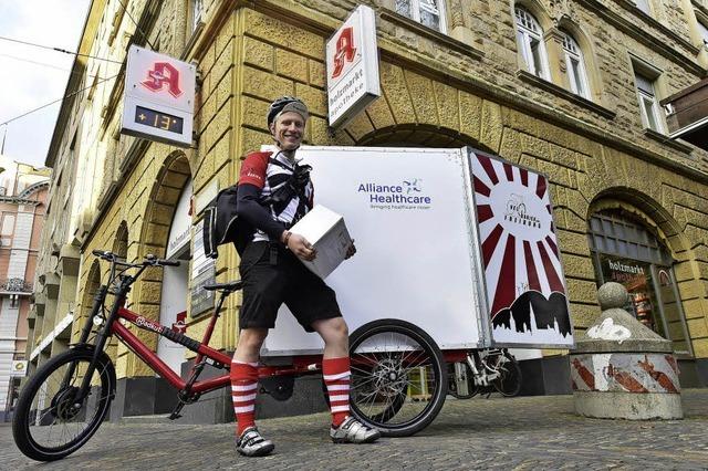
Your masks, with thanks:
M296 165L298 160L293 164L282 151L274 155L251 153L241 166L239 184L254 185L261 190L261 199L264 199L288 182ZM268 210L275 221L283 222L285 227L290 228L312 208L313 193L312 181L309 181L304 188L304 198L294 195L287 201L270 205ZM268 240L267 233L260 230L256 231L253 242Z

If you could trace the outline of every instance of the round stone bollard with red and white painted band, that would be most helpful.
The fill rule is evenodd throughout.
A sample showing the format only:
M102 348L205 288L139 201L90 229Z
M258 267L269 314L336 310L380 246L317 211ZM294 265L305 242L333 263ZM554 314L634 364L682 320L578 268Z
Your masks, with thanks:
M602 314L571 355L575 411L612 419L680 419L678 365L671 343L622 307L620 283L597 290Z

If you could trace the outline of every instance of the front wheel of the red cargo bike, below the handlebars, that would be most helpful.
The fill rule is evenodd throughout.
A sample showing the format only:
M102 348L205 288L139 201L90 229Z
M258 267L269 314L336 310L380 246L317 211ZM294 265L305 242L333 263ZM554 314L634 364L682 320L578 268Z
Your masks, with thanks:
M87 397L82 402L74 400L92 358L92 349L64 352L41 366L22 389L12 435L27 457L62 459L86 443L101 426L115 394L115 370L104 353L98 356Z

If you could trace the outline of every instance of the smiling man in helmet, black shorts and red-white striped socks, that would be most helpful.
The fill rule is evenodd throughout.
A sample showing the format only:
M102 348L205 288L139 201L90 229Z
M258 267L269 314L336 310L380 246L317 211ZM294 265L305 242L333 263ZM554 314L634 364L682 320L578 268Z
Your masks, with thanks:
M260 348L282 303L305 331L316 332L324 341L322 374L330 396L332 440L367 443L379 437L378 430L348 415L347 326L334 291L298 260L314 260L316 251L304 237L289 231L312 208L309 167L295 159L309 116L305 104L295 97L283 96L270 105L267 122L277 151L247 155L237 189L239 218L256 228L239 265L243 305L231 364L237 450L248 457L266 456L274 448L256 428L253 409ZM347 258L355 252L352 244Z

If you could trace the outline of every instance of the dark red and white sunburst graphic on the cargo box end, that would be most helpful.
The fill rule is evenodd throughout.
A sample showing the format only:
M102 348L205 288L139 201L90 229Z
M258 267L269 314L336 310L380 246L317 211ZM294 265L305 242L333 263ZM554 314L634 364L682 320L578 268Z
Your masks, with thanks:
M524 292L565 293L546 178L481 154L472 174L492 318Z

